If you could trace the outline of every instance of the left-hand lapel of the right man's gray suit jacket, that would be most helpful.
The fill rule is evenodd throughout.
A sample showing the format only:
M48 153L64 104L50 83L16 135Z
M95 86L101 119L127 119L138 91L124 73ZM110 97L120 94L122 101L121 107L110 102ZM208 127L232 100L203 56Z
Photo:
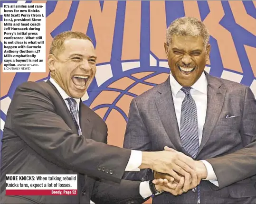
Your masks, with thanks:
M177 151L182 151L180 131L173 104L170 78L162 84L159 95L155 97L155 104L163 127Z

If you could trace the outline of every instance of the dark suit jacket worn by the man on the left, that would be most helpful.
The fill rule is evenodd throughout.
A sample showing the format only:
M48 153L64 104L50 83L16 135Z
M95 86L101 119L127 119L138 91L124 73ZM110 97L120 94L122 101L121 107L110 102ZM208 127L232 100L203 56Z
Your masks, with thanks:
M143 202L140 182L121 181L131 150L104 144L106 124L82 102L79 120L83 135L78 137L64 100L49 81L25 82L16 89L2 138L1 204ZM77 174L78 195L5 196L6 174Z

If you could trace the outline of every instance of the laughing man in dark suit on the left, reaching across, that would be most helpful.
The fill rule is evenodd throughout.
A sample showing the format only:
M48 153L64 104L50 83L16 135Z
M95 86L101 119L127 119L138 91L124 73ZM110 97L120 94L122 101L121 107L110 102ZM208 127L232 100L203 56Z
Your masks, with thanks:
M87 35L57 35L48 66L51 78L21 84L9 106L2 138L0 203L142 203L148 183L121 181L124 171L151 168L168 173L176 168L170 163L175 154L106 144L106 124L80 99L96 71L95 49ZM176 170L193 173L189 167ZM78 194L6 196L6 174L77 174Z

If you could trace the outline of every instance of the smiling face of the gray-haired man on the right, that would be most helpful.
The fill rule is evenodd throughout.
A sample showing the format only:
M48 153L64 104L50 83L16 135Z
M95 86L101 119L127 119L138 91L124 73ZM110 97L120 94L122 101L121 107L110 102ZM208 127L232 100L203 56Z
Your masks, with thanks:
M164 44L166 57L175 80L182 87L191 87L204 71L209 59L201 36L172 36L171 44Z

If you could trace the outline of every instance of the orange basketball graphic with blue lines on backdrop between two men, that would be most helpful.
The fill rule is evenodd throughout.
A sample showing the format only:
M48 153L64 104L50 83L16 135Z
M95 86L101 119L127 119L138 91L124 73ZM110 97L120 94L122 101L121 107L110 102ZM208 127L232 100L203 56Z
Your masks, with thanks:
M134 71L133 71L134 72ZM108 142L123 146L123 136L132 99L155 85L165 81L168 73L157 71L135 72L107 86L90 107L100 115L108 126Z

